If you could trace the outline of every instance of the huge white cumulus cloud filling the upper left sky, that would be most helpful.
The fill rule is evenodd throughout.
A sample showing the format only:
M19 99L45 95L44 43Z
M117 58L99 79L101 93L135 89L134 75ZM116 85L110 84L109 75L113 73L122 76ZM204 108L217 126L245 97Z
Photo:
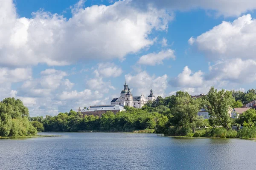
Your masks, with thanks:
M2 2L3 1L3 2ZM18 17L12 0L1 0L1 65L46 63L67 65L82 59L122 59L148 47L152 30L166 30L172 16L166 10L131 6L131 0L110 6L72 7L72 17L33 12Z

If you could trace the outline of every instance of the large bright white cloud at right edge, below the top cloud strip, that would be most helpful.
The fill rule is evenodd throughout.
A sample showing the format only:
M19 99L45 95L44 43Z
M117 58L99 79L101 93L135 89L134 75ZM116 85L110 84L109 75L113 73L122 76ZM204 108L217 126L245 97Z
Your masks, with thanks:
M256 20L250 14L233 23L220 25L194 39L194 45L212 60L227 58L255 59Z

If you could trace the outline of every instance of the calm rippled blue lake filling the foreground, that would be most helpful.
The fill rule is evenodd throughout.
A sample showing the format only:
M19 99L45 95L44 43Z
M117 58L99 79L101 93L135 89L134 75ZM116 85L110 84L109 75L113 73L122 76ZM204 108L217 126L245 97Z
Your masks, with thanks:
M255 170L256 142L137 133L0 140L1 170Z

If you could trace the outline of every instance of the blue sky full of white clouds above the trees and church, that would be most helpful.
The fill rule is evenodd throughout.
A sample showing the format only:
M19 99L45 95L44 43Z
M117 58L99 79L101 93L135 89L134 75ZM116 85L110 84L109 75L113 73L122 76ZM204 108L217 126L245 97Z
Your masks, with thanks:
M0 0L0 98L30 116L134 96L247 91L255 0Z

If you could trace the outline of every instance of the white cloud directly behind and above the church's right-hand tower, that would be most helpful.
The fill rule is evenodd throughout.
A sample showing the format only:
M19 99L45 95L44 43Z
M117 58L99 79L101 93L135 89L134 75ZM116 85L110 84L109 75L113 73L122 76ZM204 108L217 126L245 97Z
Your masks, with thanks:
M156 77L155 75L150 76L146 71L136 75L125 75L126 82L130 85L130 88L135 89L135 91L132 91L134 96L141 95L141 93L148 96L151 88L155 96L165 96L165 90L168 85L167 78L166 74Z

